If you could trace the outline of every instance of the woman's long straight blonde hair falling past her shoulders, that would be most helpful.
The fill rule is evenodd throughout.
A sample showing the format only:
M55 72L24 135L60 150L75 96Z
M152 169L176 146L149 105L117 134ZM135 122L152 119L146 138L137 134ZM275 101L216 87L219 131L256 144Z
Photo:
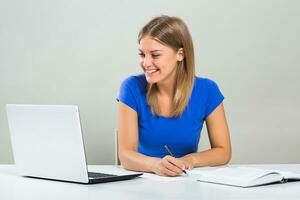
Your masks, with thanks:
M139 32L138 42L145 36L171 47L174 51L183 49L184 59L178 61L171 117L179 117L188 105L195 78L194 47L192 37L185 23L178 17L159 16L148 22ZM147 101L152 112L159 115L157 84L148 84Z

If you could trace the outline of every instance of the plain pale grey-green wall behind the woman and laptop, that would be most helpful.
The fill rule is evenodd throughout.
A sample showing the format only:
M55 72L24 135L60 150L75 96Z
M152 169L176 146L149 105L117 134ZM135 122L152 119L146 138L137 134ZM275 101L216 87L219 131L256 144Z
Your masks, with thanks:
M78 104L88 163L113 163L119 85L141 72L137 34L160 14L186 21L197 75L223 91L231 162L300 163L299 7L297 0L0 0L0 163L13 163L6 103Z

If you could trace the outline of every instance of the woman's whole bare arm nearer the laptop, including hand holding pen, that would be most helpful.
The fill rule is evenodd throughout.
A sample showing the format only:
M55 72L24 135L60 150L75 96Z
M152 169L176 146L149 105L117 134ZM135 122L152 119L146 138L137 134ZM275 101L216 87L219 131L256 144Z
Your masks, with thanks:
M182 169L185 169L182 161L171 156L160 159L145 156L137 151L138 114L121 102L119 103L118 147L119 159L125 169L154 172L162 176L178 176L182 173Z

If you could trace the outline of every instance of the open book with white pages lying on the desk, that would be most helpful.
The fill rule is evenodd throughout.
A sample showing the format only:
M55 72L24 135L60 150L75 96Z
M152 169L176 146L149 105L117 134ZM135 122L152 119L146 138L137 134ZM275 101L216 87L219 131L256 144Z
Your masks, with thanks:
M285 183L288 180L300 181L300 174L252 167L225 167L202 171L198 176L198 181L239 187Z

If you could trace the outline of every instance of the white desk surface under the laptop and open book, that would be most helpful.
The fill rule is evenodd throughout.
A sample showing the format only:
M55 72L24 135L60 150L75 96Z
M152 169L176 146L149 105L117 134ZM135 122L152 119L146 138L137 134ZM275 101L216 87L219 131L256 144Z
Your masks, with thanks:
M300 173L300 164L249 165ZM111 173L117 166L89 166L92 171ZM26 178L17 175L14 165L0 165L1 200L85 200L85 199L300 199L300 182L239 188L192 180L157 181L136 178L128 181L83 185Z

